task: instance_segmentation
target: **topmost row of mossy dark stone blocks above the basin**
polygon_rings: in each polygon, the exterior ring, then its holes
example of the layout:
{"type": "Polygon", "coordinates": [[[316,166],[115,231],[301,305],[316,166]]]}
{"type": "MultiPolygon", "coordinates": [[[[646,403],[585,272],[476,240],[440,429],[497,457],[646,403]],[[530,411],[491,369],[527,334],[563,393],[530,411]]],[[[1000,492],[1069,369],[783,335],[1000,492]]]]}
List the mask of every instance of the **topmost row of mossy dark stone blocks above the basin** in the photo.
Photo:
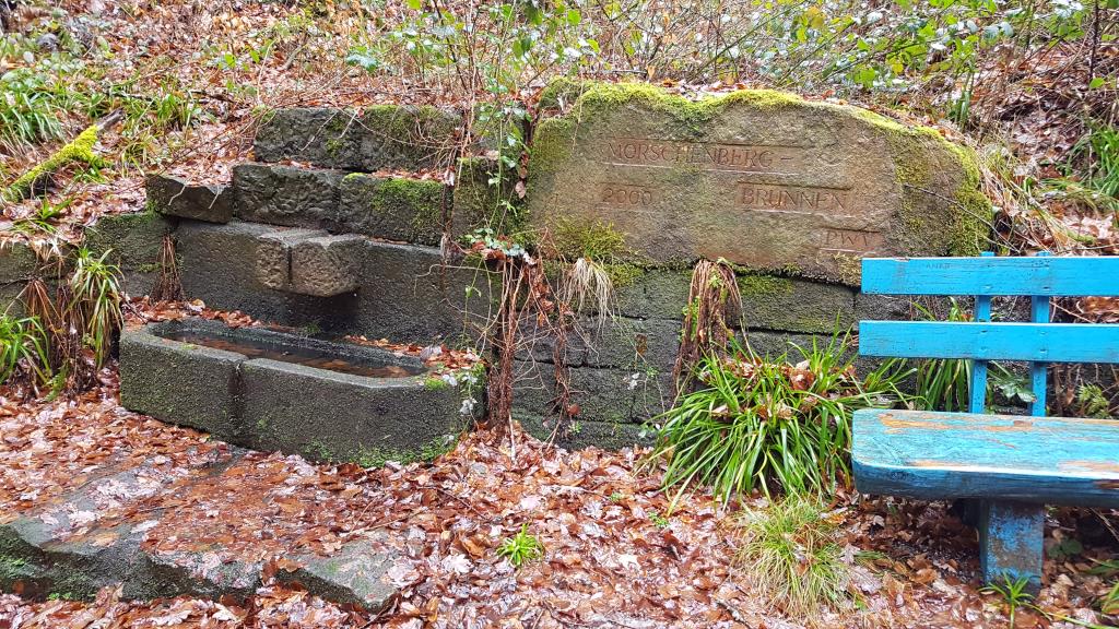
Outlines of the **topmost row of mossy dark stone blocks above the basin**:
{"type": "Polygon", "coordinates": [[[450,163],[461,126],[460,115],[431,106],[280,110],[256,132],[254,152],[345,170],[426,170],[450,163]]]}

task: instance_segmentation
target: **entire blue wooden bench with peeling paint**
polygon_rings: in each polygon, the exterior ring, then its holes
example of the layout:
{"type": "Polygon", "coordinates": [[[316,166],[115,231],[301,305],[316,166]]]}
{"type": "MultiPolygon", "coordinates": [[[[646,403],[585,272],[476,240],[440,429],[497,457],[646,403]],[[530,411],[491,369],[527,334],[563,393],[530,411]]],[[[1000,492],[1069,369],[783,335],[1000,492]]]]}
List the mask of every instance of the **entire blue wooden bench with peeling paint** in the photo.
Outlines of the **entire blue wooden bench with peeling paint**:
{"type": "Polygon", "coordinates": [[[977,501],[984,580],[1036,590],[1045,505],[1119,507],[1119,421],[1045,416],[1049,363],[1119,363],[1119,325],[1050,323],[1050,299],[1119,295],[1119,257],[867,259],[863,292],[975,295],[974,321],[859,322],[862,355],[974,368],[970,413],[855,413],[856,487],[977,501]],[[1031,297],[1032,321],[991,322],[993,295],[1031,297]],[[1032,416],[985,413],[988,360],[1029,363],[1032,416]]]}

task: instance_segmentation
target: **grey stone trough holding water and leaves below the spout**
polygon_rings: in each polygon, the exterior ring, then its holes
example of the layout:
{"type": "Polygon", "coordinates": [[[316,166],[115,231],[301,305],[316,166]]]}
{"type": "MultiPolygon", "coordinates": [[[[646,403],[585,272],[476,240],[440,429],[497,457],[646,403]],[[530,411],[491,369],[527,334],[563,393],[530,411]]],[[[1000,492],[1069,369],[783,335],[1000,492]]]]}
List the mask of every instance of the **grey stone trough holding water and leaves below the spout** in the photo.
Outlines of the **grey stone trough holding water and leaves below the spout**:
{"type": "Polygon", "coordinates": [[[419,358],[263,328],[203,319],[130,328],[120,366],[131,411],[312,460],[430,460],[469,420],[467,392],[419,358]]]}

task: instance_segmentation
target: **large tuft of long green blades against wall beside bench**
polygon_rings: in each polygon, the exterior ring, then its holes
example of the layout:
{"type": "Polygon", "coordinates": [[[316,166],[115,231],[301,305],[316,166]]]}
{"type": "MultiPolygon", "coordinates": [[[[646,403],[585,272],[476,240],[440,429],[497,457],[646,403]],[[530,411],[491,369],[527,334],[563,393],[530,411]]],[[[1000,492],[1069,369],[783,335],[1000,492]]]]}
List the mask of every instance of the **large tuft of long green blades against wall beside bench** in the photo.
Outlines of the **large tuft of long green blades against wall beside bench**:
{"type": "Polygon", "coordinates": [[[857,409],[891,406],[909,375],[887,362],[859,378],[848,336],[825,346],[792,346],[800,362],[763,360],[749,347],[708,356],[694,393],[659,415],[655,456],[664,484],[711,486],[724,501],[754,489],[771,495],[830,492],[849,476],[850,419],[857,409]]]}

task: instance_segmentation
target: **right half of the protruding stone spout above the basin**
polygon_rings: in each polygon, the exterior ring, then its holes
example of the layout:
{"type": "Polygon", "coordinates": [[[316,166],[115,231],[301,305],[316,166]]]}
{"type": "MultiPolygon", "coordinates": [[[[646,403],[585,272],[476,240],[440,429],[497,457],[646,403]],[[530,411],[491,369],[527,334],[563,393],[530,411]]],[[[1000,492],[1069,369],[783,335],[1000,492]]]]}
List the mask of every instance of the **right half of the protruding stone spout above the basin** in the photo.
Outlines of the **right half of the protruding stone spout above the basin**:
{"type": "Polygon", "coordinates": [[[314,297],[354,292],[360,285],[356,260],[365,238],[318,236],[295,242],[291,248],[291,290],[314,297]]]}

